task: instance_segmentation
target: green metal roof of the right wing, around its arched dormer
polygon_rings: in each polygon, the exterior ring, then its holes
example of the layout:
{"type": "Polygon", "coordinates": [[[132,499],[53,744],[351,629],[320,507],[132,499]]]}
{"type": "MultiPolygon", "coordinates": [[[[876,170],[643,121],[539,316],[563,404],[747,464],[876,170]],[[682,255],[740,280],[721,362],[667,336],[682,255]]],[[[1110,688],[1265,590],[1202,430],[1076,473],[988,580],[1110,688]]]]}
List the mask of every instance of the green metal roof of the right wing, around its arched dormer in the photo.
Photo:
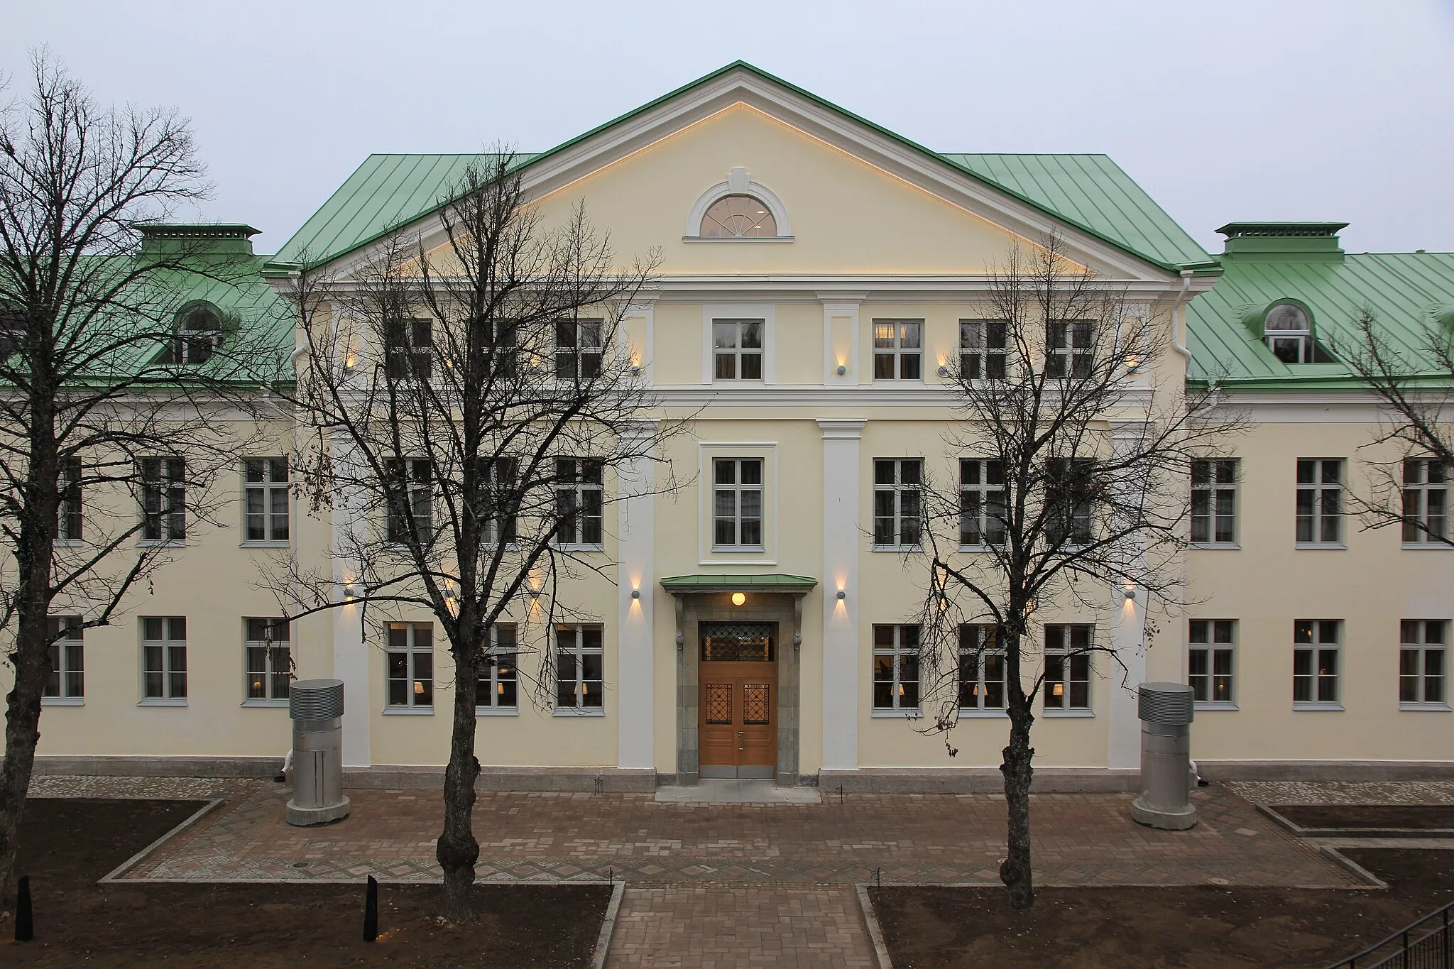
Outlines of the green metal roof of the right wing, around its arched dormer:
{"type": "Polygon", "coordinates": [[[1188,309],[1189,381],[1239,389],[1357,389],[1361,381],[1343,363],[1290,365],[1272,356],[1243,318],[1274,299],[1304,304],[1313,314],[1313,334],[1335,354],[1358,346],[1358,317],[1367,307],[1407,375],[1448,382],[1422,346],[1454,308],[1454,253],[1224,259],[1217,285],[1188,309]]]}

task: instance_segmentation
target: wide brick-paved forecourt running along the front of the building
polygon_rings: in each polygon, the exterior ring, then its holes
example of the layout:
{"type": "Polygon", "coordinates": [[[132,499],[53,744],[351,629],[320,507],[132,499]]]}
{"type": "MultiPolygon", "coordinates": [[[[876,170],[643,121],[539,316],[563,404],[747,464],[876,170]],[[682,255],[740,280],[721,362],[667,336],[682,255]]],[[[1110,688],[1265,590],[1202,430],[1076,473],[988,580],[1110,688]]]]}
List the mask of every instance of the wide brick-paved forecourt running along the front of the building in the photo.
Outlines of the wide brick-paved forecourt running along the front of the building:
{"type": "MultiPolygon", "coordinates": [[[[350,790],[353,815],[284,824],[282,784],[254,782],[124,875],[167,880],[438,880],[439,793],[350,790]]],[[[1201,824],[1153,831],[1130,795],[1035,795],[1041,885],[1351,886],[1236,795],[1197,792],[1201,824]]],[[[843,805],[659,803],[644,795],[481,793],[481,880],[997,883],[996,795],[859,795],[843,805]]]]}

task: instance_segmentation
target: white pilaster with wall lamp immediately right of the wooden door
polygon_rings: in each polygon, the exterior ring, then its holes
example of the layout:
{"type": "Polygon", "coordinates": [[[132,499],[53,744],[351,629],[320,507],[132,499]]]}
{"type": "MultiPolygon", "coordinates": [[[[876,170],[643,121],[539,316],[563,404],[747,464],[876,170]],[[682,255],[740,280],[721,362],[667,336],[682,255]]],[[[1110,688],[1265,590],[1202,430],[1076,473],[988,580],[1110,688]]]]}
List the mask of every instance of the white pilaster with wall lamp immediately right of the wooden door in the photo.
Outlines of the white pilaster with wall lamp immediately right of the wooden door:
{"type": "Polygon", "coordinates": [[[858,527],[862,418],[823,430],[823,769],[858,767],[858,527]],[[839,591],[843,599],[839,599],[839,591]]]}

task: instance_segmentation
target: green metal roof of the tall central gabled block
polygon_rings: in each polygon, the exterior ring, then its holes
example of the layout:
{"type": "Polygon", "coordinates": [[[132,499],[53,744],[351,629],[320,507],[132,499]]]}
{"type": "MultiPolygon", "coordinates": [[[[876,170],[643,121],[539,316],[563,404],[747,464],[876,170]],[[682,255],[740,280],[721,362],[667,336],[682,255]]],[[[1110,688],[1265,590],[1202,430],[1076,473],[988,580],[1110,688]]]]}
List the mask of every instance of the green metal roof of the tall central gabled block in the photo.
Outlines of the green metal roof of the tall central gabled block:
{"type": "MultiPolygon", "coordinates": [[[[1188,266],[1216,269],[1211,256],[1105,155],[941,154],[744,61],[727,64],[550,151],[521,155],[521,166],[564,151],[734,70],[755,74],[851,118],[1149,263],[1169,270],[1188,266]]],[[[449,186],[480,157],[369,155],[279,250],[272,272],[282,272],[304,259],[313,263],[336,259],[369,244],[400,224],[427,215],[446,200],[449,186]]]]}

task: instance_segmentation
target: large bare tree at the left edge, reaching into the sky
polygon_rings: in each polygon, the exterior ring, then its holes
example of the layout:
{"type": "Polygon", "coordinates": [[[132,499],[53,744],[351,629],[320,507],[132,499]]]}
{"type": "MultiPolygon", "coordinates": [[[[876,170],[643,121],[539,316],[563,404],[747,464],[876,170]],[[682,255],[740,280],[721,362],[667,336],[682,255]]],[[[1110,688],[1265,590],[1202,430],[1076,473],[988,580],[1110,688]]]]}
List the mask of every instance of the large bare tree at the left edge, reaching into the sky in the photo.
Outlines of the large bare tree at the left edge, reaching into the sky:
{"type": "Polygon", "coordinates": [[[186,292],[233,286],[250,259],[147,228],[206,195],[188,123],[99,108],[44,51],[29,81],[0,106],[0,626],[15,631],[0,893],[51,654],[76,635],[54,616],[108,625],[188,523],[212,520],[236,439],[221,401],[196,394],[240,373],[218,344],[249,341],[237,321],[179,333],[176,320],[186,292]]]}

